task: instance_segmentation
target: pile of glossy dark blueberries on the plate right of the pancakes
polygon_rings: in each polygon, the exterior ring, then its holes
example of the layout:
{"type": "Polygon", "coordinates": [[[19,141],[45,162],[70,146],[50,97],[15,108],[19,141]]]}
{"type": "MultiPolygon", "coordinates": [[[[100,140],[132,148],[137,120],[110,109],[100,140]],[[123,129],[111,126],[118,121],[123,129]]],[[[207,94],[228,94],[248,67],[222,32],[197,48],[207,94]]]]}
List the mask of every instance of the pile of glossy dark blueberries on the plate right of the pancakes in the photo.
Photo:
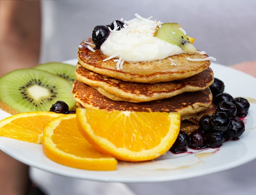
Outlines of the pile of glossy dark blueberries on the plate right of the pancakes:
{"type": "Polygon", "coordinates": [[[250,104],[242,97],[233,98],[223,93],[224,83],[215,78],[210,86],[216,112],[204,115],[199,120],[199,129],[189,136],[180,131],[171,147],[172,153],[183,153],[187,146],[192,149],[220,147],[224,141],[237,140],[244,133],[244,122],[239,117],[247,116],[250,104]]]}

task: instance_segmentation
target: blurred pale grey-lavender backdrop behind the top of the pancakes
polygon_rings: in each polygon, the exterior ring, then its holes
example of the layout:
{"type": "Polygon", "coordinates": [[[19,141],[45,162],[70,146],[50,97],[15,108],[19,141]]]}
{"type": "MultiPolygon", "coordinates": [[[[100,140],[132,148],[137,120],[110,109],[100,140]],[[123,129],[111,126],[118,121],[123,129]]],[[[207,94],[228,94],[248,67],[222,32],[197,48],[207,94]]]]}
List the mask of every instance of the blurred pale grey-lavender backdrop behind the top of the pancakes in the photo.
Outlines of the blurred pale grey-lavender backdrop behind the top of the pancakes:
{"type": "Polygon", "coordinates": [[[217,63],[256,60],[254,0],[90,0],[42,1],[41,62],[76,58],[79,43],[96,25],[131,20],[135,13],[164,23],[179,23],[195,48],[217,63]]]}

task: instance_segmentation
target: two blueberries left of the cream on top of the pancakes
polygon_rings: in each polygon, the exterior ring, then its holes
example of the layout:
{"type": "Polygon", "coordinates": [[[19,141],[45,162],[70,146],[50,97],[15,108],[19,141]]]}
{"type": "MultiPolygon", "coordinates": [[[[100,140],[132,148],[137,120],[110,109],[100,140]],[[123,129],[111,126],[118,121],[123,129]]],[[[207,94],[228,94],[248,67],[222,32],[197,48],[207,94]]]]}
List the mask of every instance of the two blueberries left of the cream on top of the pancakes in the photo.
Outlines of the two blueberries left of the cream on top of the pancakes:
{"type": "Polygon", "coordinates": [[[116,26],[118,27],[116,30],[119,31],[121,28],[124,27],[124,22],[120,21],[120,20],[115,20],[113,21],[113,23],[111,23],[111,25],[98,25],[95,26],[95,28],[93,29],[93,43],[94,45],[96,45],[97,48],[99,48],[102,43],[108,38],[108,35],[110,33],[109,28],[111,28],[111,30],[113,30],[115,28],[115,23],[116,26]],[[108,28],[109,27],[109,28],[108,28]]]}

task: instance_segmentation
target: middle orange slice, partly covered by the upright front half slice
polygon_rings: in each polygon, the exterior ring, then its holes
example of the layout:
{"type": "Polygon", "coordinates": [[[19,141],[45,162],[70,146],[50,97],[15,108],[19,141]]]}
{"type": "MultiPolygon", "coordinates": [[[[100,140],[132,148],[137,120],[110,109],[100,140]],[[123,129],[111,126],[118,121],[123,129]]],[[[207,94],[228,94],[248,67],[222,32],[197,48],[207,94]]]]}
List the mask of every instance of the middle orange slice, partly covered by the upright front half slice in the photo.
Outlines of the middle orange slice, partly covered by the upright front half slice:
{"type": "Polygon", "coordinates": [[[76,114],[60,116],[44,129],[43,150],[52,161],[85,170],[116,170],[117,160],[100,153],[81,135],[76,114]]]}

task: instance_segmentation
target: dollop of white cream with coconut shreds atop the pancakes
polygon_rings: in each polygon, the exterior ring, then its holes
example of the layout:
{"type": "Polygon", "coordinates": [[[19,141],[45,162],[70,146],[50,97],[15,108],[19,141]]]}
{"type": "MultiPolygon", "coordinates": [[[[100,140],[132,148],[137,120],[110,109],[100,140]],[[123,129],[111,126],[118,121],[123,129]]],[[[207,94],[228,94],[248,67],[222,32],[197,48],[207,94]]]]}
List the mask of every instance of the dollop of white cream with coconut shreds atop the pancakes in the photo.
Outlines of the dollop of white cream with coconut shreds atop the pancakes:
{"type": "Polygon", "coordinates": [[[114,55],[127,62],[148,62],[184,53],[179,46],[154,37],[156,28],[163,23],[150,20],[151,17],[135,16],[132,20],[124,21],[121,30],[110,32],[100,48],[104,55],[114,55]]]}

